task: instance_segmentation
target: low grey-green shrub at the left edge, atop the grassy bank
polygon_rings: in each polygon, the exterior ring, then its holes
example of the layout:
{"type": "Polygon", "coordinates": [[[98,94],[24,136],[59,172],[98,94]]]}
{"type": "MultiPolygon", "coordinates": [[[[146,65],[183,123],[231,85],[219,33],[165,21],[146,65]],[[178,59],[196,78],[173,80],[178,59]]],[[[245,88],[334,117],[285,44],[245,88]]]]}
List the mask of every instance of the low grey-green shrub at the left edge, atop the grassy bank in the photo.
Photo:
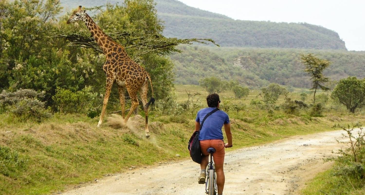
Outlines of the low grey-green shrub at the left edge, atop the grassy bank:
{"type": "Polygon", "coordinates": [[[44,93],[32,89],[19,89],[15,92],[5,90],[0,94],[1,110],[10,111],[22,120],[41,121],[51,116],[45,109],[45,102],[40,101],[44,98],[44,93]]]}

